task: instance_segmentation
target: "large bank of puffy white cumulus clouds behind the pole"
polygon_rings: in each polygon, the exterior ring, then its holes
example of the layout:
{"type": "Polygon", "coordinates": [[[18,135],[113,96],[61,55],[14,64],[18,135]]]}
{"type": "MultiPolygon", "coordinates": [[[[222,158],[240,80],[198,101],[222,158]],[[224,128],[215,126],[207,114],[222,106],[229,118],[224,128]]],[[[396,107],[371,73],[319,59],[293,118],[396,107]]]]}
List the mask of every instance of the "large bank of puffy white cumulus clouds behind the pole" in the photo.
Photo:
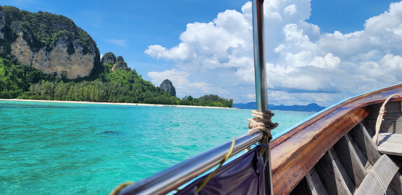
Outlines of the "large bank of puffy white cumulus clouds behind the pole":
{"type": "MultiPolygon", "coordinates": [[[[270,103],[329,106],[402,81],[402,2],[367,18],[363,31],[347,34],[322,33],[306,21],[310,12],[310,0],[264,2],[270,103]]],[[[175,62],[148,76],[156,85],[171,80],[179,97],[255,98],[251,2],[209,23],[190,23],[178,45],[150,45],[145,53],[175,62]]]]}

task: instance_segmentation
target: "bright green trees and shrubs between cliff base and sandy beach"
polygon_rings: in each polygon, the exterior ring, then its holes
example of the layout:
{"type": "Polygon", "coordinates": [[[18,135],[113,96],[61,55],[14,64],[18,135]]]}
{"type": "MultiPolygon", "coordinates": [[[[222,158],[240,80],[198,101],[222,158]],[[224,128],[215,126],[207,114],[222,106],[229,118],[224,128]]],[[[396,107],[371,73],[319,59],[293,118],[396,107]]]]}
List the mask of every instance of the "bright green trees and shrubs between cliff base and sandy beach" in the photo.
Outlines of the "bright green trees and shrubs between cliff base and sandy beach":
{"type": "Polygon", "coordinates": [[[212,94],[198,99],[192,96],[179,99],[144,80],[131,68],[112,71],[113,65],[104,63],[103,66],[103,73],[95,80],[69,80],[44,74],[41,70],[22,64],[15,57],[9,60],[0,57],[0,98],[213,107],[233,105],[232,99],[212,94]]]}

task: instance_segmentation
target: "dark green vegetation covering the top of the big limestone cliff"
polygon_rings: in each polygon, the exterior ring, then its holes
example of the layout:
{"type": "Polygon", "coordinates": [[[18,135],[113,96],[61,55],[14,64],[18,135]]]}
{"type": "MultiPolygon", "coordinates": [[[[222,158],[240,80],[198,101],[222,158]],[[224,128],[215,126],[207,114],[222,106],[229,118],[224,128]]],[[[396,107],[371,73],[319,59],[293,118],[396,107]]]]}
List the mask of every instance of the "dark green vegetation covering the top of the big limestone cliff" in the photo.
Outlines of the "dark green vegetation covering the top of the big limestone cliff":
{"type": "Polygon", "coordinates": [[[52,14],[50,12],[39,11],[37,13],[26,10],[19,10],[13,6],[0,6],[4,10],[5,16],[5,39],[0,42],[0,46],[6,48],[6,53],[10,52],[10,44],[18,37],[19,32],[23,33],[23,39],[27,41],[32,51],[38,51],[45,47],[47,51],[53,49],[55,41],[60,37],[68,39],[68,52],[74,53],[73,40],[82,44],[84,55],[91,50],[91,45],[96,43],[91,36],[80,27],[77,27],[72,19],[63,15],[52,14]]]}

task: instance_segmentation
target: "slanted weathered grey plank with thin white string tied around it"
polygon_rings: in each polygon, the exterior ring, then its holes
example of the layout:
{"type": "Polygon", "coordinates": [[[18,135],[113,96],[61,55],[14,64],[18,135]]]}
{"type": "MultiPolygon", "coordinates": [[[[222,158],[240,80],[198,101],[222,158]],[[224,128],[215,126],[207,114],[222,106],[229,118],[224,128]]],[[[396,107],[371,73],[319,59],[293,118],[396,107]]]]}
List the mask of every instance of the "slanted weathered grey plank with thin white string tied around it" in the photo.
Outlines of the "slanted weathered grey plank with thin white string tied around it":
{"type": "MultiPolygon", "coordinates": [[[[400,168],[402,162],[399,160],[392,160],[386,154],[382,155],[376,164],[374,164],[373,169],[378,175],[379,179],[384,183],[384,186],[388,188],[391,180],[394,178],[396,172],[400,168]]],[[[374,176],[373,172],[368,172],[367,176],[364,178],[360,187],[356,190],[355,195],[382,195],[384,194],[384,189],[381,184],[374,176]]]]}

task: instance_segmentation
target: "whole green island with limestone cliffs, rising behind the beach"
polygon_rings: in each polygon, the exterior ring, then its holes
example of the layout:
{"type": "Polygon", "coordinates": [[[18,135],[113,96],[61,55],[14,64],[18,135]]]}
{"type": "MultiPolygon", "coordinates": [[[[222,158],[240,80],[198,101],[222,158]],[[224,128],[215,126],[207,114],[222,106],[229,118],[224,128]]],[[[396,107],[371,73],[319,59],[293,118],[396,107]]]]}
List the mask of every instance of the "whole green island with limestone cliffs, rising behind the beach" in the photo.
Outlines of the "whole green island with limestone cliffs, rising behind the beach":
{"type": "Polygon", "coordinates": [[[102,57],[96,42],[63,15],[0,6],[0,99],[232,107],[206,94],[176,97],[168,79],[144,80],[122,56],[102,57]]]}

